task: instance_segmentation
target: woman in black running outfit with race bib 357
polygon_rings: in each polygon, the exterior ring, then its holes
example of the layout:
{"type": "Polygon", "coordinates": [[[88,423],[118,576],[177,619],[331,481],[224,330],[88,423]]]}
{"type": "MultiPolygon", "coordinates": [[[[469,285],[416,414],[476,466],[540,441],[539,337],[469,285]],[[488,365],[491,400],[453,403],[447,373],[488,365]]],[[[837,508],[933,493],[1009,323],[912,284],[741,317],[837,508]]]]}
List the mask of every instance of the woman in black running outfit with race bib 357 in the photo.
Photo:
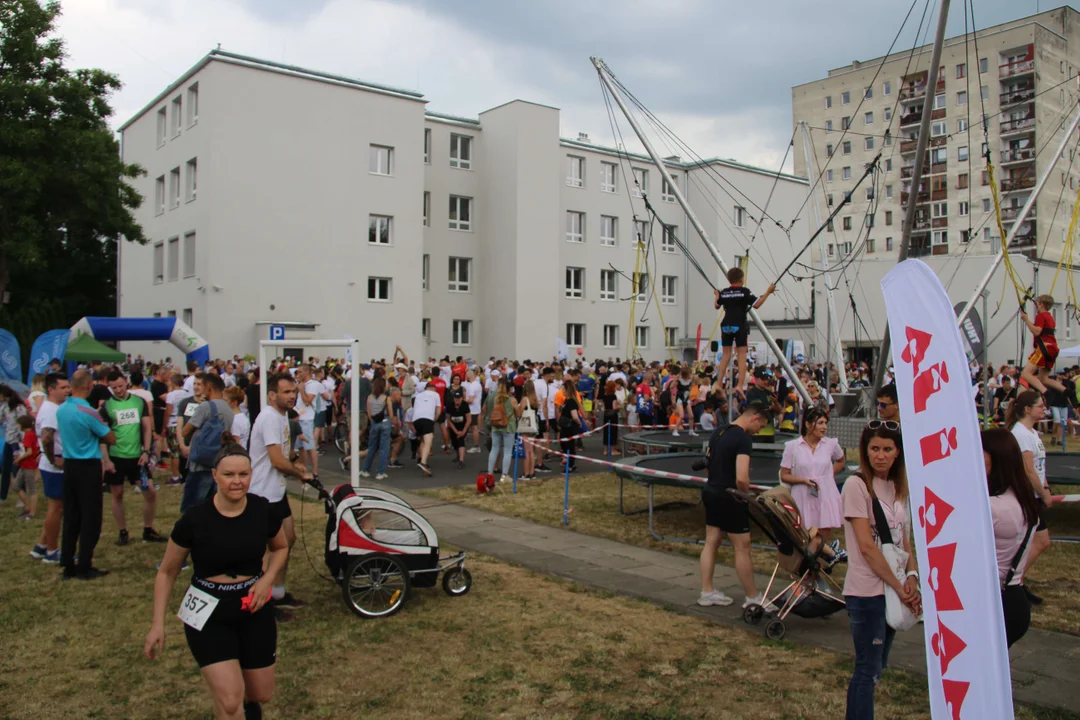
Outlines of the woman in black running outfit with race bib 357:
{"type": "Polygon", "coordinates": [[[188,648],[214,698],[215,718],[262,717],[273,695],[278,626],[267,606],[288,544],[270,502],[248,494],[252,461],[235,443],[217,453],[217,492],[176,521],[153,586],[153,622],[143,652],[165,648],[165,613],[180,567],[191,555],[194,578],[180,603],[188,648]],[[262,556],[269,544],[266,571],[262,556]]]}

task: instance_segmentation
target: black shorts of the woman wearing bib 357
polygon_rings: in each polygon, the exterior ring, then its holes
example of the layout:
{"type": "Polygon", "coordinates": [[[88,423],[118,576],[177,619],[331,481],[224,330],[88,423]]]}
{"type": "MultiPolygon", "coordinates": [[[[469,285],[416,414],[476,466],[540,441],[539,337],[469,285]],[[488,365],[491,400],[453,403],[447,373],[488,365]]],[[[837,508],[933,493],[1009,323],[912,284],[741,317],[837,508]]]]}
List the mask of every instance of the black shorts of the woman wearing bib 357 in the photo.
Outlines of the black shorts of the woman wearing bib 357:
{"type": "Polygon", "coordinates": [[[188,648],[199,667],[230,660],[240,661],[245,670],[271,667],[278,658],[278,623],[273,608],[262,608],[252,614],[240,604],[257,578],[231,585],[211,583],[200,578],[191,581],[195,588],[218,598],[214,613],[201,630],[184,626],[188,648]]]}

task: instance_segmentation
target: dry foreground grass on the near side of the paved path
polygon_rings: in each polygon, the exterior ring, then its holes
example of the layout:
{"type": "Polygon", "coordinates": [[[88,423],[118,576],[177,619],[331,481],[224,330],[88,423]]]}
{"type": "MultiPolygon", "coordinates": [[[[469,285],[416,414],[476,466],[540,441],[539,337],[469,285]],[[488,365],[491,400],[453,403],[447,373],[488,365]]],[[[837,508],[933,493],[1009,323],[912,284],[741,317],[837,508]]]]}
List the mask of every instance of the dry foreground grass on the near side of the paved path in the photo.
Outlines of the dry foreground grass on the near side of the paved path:
{"type": "MultiPolygon", "coordinates": [[[[166,531],[179,491],[161,495],[159,527],[166,531]]],[[[293,507],[300,512],[298,501],[293,507]]],[[[138,527],[138,498],[131,498],[131,527],[138,527]]],[[[164,656],[153,663],[141,656],[161,545],[117,547],[106,519],[95,565],[111,574],[60,583],[55,567],[26,556],[37,525],[14,520],[10,505],[0,513],[0,717],[210,717],[172,613],[164,656]]],[[[303,519],[308,549],[323,572],[320,506],[305,504],[303,519]]],[[[843,712],[848,657],[487,558],[469,567],[475,584],[465,597],[418,590],[397,615],[363,621],[336,586],[316,576],[298,543],[289,587],[311,604],[279,627],[278,691],[266,717],[825,719],[843,712]]],[[[877,690],[878,717],[928,717],[924,682],[888,671],[877,690]]],[[[1017,717],[1077,718],[1028,708],[1017,717]]]]}

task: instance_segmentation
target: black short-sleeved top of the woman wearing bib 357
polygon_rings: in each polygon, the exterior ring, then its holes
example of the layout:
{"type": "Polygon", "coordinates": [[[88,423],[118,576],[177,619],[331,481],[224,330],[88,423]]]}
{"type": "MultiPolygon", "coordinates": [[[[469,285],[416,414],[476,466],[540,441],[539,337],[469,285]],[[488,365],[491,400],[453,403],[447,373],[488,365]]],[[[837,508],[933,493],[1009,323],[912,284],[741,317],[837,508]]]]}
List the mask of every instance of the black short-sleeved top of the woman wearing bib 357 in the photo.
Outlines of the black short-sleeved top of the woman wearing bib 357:
{"type": "Polygon", "coordinates": [[[195,578],[257,575],[262,572],[267,541],[281,529],[281,515],[270,501],[247,495],[244,512],[221,515],[213,498],[188,510],[173,526],[170,539],[191,551],[195,578]]]}

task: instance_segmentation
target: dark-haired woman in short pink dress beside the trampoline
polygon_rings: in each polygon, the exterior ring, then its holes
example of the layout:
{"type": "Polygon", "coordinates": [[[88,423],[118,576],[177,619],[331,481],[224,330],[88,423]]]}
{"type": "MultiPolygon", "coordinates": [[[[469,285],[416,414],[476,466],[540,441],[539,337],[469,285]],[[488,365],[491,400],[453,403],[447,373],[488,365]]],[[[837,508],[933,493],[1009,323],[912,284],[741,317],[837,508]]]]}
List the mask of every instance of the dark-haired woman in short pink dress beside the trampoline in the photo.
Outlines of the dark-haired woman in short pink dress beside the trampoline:
{"type": "Polygon", "coordinates": [[[802,515],[802,525],[818,528],[825,542],[831,530],[843,525],[836,473],[843,472],[845,453],[839,440],[826,437],[828,416],[811,407],[802,416],[799,437],[784,445],[780,480],[792,486],[792,498],[802,515]]]}

